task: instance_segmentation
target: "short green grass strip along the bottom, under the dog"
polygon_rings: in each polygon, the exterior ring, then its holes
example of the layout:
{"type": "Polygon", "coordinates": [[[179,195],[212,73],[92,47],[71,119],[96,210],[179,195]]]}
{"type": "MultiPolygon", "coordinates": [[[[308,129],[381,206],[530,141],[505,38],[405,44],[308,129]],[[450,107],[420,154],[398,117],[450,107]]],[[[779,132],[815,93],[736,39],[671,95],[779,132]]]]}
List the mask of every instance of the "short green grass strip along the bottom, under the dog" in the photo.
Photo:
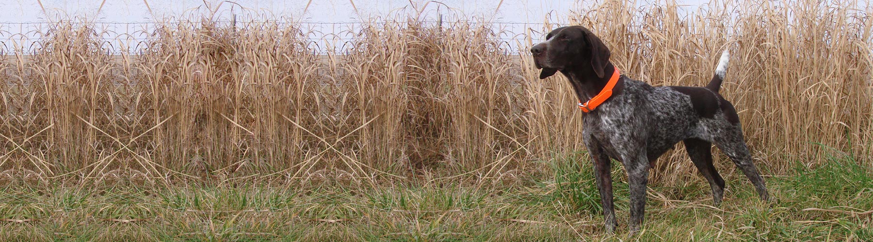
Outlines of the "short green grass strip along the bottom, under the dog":
{"type": "Polygon", "coordinates": [[[499,187],[12,182],[0,189],[0,241],[873,239],[873,175],[847,158],[797,163],[794,174],[767,178],[769,203],[739,174],[724,174],[728,192],[718,208],[702,179],[683,188],[652,185],[643,232],[630,239],[620,166],[613,169],[620,228],[608,235],[584,154],[547,162],[553,177],[499,187]]]}

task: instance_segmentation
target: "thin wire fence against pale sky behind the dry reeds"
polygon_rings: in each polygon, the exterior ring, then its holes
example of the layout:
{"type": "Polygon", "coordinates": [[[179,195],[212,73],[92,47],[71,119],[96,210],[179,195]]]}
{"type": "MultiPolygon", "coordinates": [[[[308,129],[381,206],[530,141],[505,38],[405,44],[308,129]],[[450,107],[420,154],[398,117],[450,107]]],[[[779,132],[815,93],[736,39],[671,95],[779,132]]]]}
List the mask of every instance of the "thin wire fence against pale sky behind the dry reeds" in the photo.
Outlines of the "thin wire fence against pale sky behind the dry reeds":
{"type": "MultiPolygon", "coordinates": [[[[211,21],[223,27],[257,28],[259,24],[275,24],[279,29],[297,28],[306,37],[308,47],[315,52],[337,53],[347,52],[354,46],[354,39],[365,26],[381,26],[381,24],[409,24],[411,22],[283,22],[283,21],[246,21],[232,20],[211,21]]],[[[563,26],[567,24],[543,24],[521,22],[443,22],[439,20],[416,21],[417,24],[433,24],[441,28],[453,28],[455,24],[485,25],[495,32],[501,41],[501,48],[507,52],[517,52],[526,44],[538,42],[545,36],[546,27],[563,26]]],[[[43,50],[45,37],[58,24],[72,26],[88,25],[93,35],[100,41],[100,49],[110,54],[138,54],[149,46],[155,31],[164,26],[177,24],[200,25],[200,21],[172,22],[0,22],[0,55],[13,53],[32,55],[43,50]]]]}

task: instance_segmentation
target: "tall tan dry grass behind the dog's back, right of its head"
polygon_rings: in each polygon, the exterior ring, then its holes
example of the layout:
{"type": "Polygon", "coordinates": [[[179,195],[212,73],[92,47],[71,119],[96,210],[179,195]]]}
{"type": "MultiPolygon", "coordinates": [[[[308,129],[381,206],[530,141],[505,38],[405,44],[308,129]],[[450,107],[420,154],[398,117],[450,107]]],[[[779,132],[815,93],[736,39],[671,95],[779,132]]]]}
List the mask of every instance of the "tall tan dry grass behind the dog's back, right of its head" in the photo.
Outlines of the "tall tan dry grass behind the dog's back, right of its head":
{"type": "MultiPolygon", "coordinates": [[[[625,73],[655,85],[704,85],[719,51],[731,50],[722,93],[757,163],[786,174],[834,151],[873,165],[873,16],[863,4],[713,2],[684,16],[670,2],[607,1],[573,22],[591,26],[625,73]]],[[[682,150],[665,155],[656,177],[695,172],[682,150]]]]}

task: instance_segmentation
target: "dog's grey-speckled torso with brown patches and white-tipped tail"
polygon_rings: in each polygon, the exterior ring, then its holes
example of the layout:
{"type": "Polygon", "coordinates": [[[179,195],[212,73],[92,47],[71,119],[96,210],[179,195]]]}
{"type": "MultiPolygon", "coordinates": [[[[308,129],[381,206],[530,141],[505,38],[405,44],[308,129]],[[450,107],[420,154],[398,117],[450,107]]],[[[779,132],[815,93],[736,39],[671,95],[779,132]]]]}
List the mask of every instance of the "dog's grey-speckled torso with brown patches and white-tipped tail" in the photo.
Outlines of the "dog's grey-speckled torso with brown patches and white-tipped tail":
{"type": "Polygon", "coordinates": [[[732,104],[718,94],[725,77],[727,60],[725,51],[716,74],[706,87],[654,87],[623,77],[622,93],[613,97],[610,101],[612,104],[603,104],[600,113],[588,115],[586,118],[593,119],[593,122],[586,126],[601,130],[603,138],[621,133],[622,129],[645,136],[650,162],[686,138],[713,142],[714,133],[739,125],[732,104]],[[638,118],[624,117],[626,114],[634,114],[638,118]],[[642,125],[611,128],[616,122],[639,122],[642,125]]]}

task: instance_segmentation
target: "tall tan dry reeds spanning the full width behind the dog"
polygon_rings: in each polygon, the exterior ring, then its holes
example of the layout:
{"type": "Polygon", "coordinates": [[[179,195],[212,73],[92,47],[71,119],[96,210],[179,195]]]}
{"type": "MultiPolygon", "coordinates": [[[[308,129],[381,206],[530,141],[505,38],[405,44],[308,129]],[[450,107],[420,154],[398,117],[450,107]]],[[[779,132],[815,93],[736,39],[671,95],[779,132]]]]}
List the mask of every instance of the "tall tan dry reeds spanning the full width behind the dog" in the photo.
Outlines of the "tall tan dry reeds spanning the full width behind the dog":
{"type": "MultiPolygon", "coordinates": [[[[569,22],[594,30],[626,75],[655,85],[705,84],[730,49],[722,92],[756,162],[784,174],[835,153],[871,165],[873,16],[857,5],[743,1],[686,16],[670,2],[606,1],[569,22]]],[[[584,149],[566,80],[538,80],[526,51],[508,53],[491,25],[374,22],[347,53],[318,55],[299,25],[277,23],[161,24],[141,55],[107,54],[93,24],[53,25],[36,55],[0,62],[0,169],[38,179],[494,181],[584,149]]],[[[695,177],[686,159],[668,153],[655,181],[695,177]]]]}

